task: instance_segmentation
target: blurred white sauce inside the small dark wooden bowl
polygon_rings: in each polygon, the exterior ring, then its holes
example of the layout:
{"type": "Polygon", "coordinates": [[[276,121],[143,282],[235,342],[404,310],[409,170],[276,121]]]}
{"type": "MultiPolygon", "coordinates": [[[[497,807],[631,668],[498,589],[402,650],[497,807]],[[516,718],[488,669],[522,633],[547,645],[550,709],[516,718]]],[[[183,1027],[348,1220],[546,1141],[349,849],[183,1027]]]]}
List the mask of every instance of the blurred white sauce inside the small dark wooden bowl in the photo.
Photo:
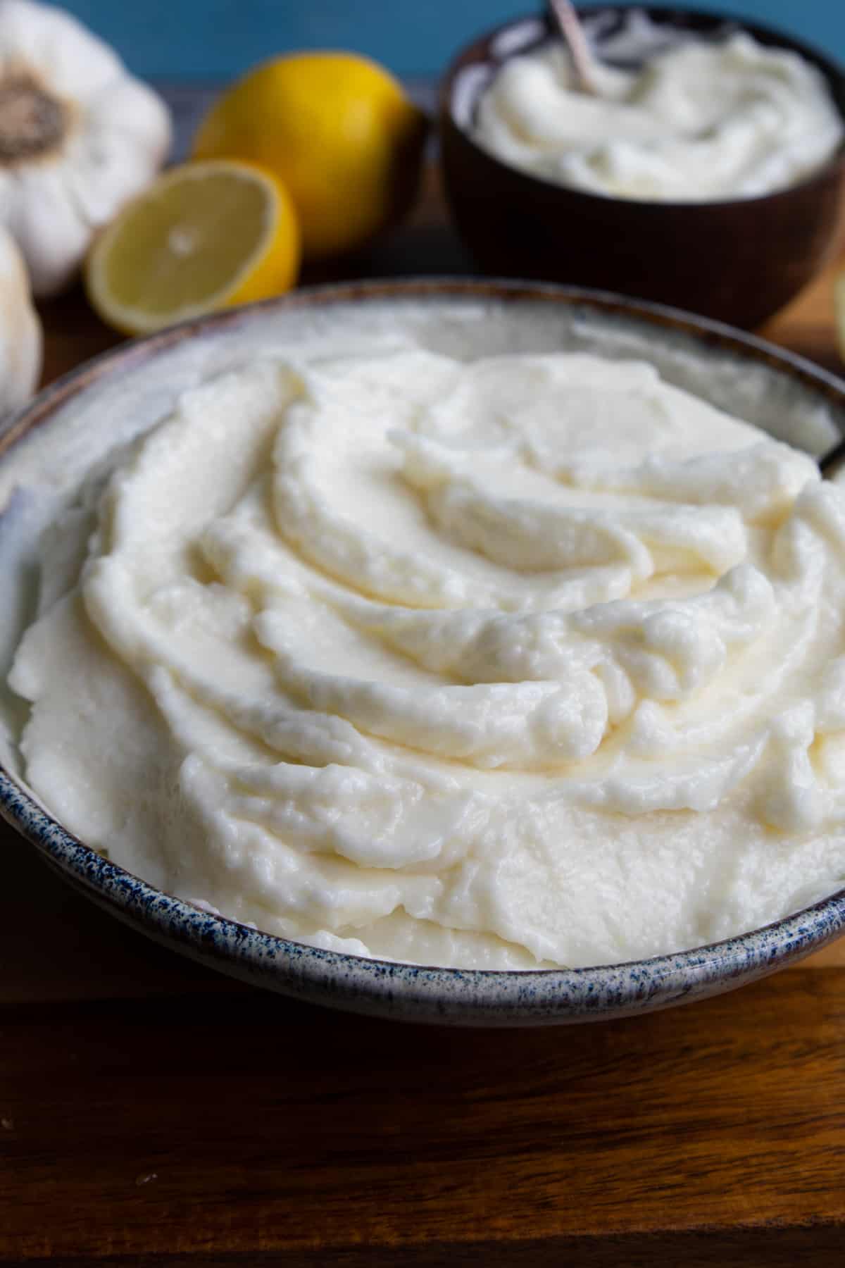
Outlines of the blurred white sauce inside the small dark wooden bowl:
{"type": "Polygon", "coordinates": [[[688,39],[640,71],[598,66],[576,91],[560,44],[513,57],[481,95],[474,134],[560,185],[646,202],[755,198],[821,167],[842,119],[815,66],[751,36],[688,39]]]}

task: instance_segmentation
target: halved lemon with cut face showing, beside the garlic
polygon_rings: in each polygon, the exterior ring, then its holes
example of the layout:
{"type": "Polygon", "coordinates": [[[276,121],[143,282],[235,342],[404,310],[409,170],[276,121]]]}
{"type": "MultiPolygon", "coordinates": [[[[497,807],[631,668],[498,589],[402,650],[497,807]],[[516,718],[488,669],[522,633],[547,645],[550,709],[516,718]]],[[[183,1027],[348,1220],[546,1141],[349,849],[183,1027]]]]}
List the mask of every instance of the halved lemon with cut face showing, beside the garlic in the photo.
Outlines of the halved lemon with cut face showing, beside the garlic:
{"type": "Polygon", "coordinates": [[[94,243],[85,284],[100,317],[148,335],[281,294],[296,280],[299,226],[272,172],[234,160],[160,176],[94,243]]]}

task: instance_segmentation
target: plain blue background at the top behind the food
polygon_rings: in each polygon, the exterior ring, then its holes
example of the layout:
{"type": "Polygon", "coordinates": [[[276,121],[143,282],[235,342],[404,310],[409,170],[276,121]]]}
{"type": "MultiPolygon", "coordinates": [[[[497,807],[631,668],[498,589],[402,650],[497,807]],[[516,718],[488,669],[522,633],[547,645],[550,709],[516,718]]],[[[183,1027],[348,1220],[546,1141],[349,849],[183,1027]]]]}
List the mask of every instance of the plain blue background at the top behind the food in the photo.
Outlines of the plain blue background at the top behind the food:
{"type": "MultiPolygon", "coordinates": [[[[228,79],[293,48],[353,48],[399,75],[437,74],[470,36],[537,0],[67,0],[139,75],[228,79]]],[[[679,5],[683,8],[683,4],[679,5]]],[[[845,61],[845,0],[697,0],[780,27],[845,61]]]]}

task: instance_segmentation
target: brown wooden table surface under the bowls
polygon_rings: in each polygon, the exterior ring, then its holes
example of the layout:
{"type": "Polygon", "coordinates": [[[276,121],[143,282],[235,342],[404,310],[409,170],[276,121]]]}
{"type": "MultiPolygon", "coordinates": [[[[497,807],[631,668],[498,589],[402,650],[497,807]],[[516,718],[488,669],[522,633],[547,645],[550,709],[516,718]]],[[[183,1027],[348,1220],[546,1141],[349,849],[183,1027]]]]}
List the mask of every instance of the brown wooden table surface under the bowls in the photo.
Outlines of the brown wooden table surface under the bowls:
{"type": "MultiPolygon", "coordinates": [[[[433,180],[360,268],[466,270],[433,180]]],[[[766,333],[837,368],[830,285],[766,333]]],[[[48,379],[115,342],[43,316],[48,379]]],[[[0,848],[1,1263],[842,1263],[845,940],[633,1021],[424,1030],[215,976],[0,848]]]]}

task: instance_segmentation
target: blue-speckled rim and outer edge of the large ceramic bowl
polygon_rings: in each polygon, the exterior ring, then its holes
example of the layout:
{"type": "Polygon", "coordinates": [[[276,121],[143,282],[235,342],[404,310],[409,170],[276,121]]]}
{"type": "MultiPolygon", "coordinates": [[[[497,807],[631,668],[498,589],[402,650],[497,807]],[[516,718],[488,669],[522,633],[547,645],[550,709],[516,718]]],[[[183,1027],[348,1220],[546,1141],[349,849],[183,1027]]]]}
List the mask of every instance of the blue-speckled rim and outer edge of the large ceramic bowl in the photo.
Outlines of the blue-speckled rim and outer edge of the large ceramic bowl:
{"type": "MultiPolygon", "coordinates": [[[[551,302],[679,330],[783,370],[845,408],[845,383],[796,354],[721,322],[607,292],[498,279],[426,278],[303,288],[279,299],[198,318],[85,363],[39,393],[0,429],[0,462],[32,427],[91,383],[186,339],[251,321],[269,309],[389,299],[475,298],[551,302]]],[[[365,959],[262,933],[163,894],[85,846],[0,766],[0,815],[44,861],[114,915],[191,959],[312,1003],[403,1021],[531,1026],[631,1016],[717,994],[764,976],[845,932],[845,889],[739,937],[617,965],[494,971],[365,959]]],[[[37,929],[34,929],[37,933],[37,929]]]]}

